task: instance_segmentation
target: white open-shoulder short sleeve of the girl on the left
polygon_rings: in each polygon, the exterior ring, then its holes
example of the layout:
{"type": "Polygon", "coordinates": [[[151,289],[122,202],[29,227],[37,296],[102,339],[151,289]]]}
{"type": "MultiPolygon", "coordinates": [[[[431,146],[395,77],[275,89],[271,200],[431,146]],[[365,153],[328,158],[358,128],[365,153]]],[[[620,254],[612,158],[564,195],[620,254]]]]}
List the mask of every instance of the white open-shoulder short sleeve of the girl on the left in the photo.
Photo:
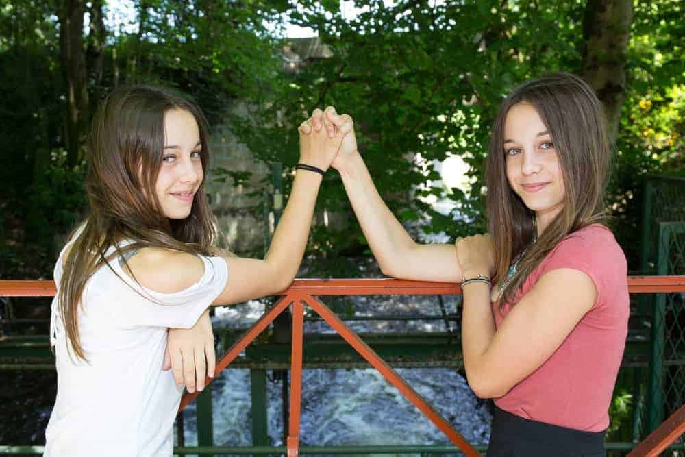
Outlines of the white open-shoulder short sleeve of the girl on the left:
{"type": "Polygon", "coordinates": [[[122,304],[125,309],[117,313],[121,323],[126,327],[151,325],[190,328],[195,325],[201,314],[219,297],[228,281],[228,265],[222,257],[199,257],[204,264],[202,277],[192,286],[176,293],[151,291],[118,268],[117,273],[128,284],[121,285],[128,289],[128,296],[134,297],[122,304]]]}

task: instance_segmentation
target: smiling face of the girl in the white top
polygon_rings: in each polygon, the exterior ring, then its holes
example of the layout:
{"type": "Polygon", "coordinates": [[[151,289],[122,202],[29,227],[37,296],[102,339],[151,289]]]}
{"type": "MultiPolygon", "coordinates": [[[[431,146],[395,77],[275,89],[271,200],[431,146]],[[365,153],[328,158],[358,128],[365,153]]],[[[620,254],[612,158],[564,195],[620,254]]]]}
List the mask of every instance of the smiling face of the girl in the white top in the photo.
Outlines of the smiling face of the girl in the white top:
{"type": "Polygon", "coordinates": [[[169,219],[185,219],[204,173],[202,143],[195,117],[185,110],[164,114],[164,154],[155,193],[169,219]]]}

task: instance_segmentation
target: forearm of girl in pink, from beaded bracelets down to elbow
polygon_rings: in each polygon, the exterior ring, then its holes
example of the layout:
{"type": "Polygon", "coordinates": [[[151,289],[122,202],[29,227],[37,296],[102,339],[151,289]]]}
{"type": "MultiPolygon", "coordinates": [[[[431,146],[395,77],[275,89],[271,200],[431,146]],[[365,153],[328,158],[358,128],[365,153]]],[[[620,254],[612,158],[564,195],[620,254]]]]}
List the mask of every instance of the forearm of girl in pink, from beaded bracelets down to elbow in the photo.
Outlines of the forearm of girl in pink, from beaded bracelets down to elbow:
{"type": "Polygon", "coordinates": [[[495,318],[490,304],[490,288],[471,283],[462,289],[462,353],[469,386],[479,397],[498,397],[493,391],[496,373],[488,373],[488,348],[495,337],[495,318]]]}

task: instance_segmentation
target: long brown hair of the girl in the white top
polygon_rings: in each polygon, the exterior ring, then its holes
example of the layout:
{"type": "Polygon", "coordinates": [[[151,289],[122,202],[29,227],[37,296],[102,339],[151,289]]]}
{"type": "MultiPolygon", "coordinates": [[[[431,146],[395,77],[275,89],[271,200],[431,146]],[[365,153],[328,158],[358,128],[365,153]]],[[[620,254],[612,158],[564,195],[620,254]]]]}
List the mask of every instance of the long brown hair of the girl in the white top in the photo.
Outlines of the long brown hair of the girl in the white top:
{"type": "MultiPolygon", "coordinates": [[[[103,101],[88,138],[86,195],[90,212],[64,262],[59,309],[66,336],[86,360],[78,330],[84,287],[114,256],[143,247],[206,254],[216,238],[214,217],[201,184],[186,219],[169,219],[155,193],[164,149],[164,114],[185,110],[197,121],[202,169],[208,163],[208,130],[196,103],[173,90],[127,86],[103,101]],[[120,248],[121,240],[133,243],[120,248]],[[114,247],[114,254],[105,253],[114,247]]],[[[111,268],[111,267],[110,267],[111,268]]]]}

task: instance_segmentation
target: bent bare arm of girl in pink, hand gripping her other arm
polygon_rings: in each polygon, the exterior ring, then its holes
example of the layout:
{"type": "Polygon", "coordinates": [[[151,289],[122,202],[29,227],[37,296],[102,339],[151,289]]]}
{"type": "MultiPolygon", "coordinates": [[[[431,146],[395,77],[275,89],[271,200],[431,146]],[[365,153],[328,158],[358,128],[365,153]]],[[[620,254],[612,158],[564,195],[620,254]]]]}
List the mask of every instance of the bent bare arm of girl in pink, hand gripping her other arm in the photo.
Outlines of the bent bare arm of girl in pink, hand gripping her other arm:
{"type": "MultiPolygon", "coordinates": [[[[490,240],[484,236],[458,243],[466,277],[490,275],[488,249],[492,249],[490,240]]],[[[475,394],[483,398],[501,397],[543,365],[597,299],[595,283],[582,271],[549,271],[496,330],[488,286],[482,282],[466,284],[462,294],[466,378],[475,394]]]]}

